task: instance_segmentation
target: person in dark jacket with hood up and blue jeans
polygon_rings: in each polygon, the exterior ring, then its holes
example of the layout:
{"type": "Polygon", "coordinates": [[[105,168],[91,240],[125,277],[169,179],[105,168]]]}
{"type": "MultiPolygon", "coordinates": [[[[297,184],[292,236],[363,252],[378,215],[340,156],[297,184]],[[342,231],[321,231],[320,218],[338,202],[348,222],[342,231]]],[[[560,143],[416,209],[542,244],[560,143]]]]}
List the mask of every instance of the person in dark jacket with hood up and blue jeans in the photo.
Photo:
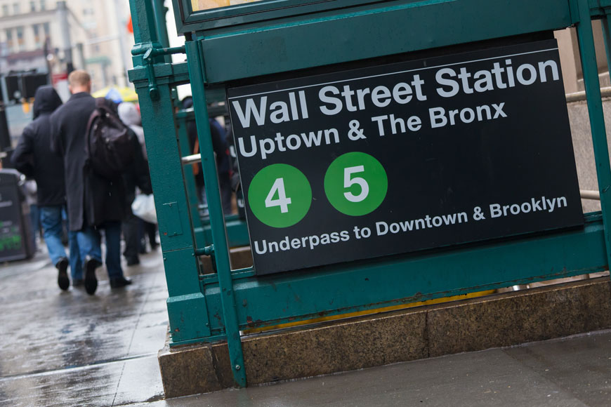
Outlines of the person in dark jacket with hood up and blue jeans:
{"type": "MultiPolygon", "coordinates": [[[[62,244],[62,211],[66,204],[63,161],[49,150],[51,113],[62,105],[53,86],[41,86],[34,95],[34,121],[24,130],[11,156],[15,168],[38,185],[38,206],[44,241],[53,265],[58,269],[58,286],[70,286],[67,267],[69,260],[62,244]]],[[[68,234],[70,241],[70,272],[72,284],[83,283],[83,270],[77,244],[77,234],[68,234]]]]}

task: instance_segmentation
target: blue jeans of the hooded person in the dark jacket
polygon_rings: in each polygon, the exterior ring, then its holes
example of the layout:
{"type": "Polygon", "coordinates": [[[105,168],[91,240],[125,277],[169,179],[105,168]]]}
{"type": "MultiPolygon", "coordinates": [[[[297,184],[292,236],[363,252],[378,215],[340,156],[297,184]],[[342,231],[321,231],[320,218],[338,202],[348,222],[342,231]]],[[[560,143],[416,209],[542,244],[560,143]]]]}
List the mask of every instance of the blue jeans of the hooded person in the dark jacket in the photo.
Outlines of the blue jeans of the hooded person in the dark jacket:
{"type": "MultiPolygon", "coordinates": [[[[40,206],[40,223],[43,229],[44,241],[53,265],[60,258],[67,258],[64,245],[62,244],[62,206],[40,206]]],[[[68,232],[70,242],[70,274],[73,280],[83,279],[83,268],[81,267],[81,256],[77,243],[77,232],[68,232]]]]}

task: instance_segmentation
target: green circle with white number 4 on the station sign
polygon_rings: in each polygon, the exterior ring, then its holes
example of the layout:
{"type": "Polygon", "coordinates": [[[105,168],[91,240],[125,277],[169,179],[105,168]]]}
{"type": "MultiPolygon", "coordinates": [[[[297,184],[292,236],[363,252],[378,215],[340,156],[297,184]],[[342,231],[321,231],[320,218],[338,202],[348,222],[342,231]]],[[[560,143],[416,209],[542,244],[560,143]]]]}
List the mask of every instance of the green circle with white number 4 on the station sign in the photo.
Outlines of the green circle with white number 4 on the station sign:
{"type": "Polygon", "coordinates": [[[289,227],[306,216],[312,188],[306,175],[288,164],[272,164],[256,173],[248,201],[258,220],[271,227],[289,227]]]}

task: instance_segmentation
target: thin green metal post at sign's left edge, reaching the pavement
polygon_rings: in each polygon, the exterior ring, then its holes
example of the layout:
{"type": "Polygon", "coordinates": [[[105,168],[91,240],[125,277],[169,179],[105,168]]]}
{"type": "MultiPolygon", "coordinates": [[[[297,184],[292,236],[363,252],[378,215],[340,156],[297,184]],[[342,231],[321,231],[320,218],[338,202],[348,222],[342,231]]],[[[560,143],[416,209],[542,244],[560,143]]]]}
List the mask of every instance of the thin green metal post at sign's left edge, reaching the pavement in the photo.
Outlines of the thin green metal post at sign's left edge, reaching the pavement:
{"type": "Polygon", "coordinates": [[[214,244],[214,255],[218,274],[218,285],[221,288],[221,305],[225,321],[225,334],[229,348],[229,358],[233,371],[233,380],[239,387],[246,387],[246,373],[244,369],[244,354],[242,342],[239,338],[235,292],[231,277],[229,262],[229,249],[221,193],[218,189],[216,175],[216,160],[214,159],[212,136],[204,91],[204,61],[200,53],[199,41],[187,41],[186,51],[189,65],[189,76],[193,92],[193,109],[195,110],[195,123],[199,135],[199,150],[202,154],[202,167],[204,169],[204,185],[208,197],[210,213],[210,227],[214,244]]]}

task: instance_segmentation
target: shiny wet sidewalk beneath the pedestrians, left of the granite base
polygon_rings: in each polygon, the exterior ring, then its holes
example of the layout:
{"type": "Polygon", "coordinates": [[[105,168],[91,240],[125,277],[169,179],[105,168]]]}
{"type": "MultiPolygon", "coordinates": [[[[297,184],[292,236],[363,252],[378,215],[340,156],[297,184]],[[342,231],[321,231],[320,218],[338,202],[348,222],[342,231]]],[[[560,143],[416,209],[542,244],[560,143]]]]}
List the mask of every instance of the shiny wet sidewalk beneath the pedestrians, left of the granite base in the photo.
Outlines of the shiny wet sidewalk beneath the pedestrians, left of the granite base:
{"type": "Polygon", "coordinates": [[[167,330],[161,253],[125,267],[111,290],[63,292],[44,253],[0,266],[0,406],[115,406],[162,398],[157,351],[167,330]]]}

